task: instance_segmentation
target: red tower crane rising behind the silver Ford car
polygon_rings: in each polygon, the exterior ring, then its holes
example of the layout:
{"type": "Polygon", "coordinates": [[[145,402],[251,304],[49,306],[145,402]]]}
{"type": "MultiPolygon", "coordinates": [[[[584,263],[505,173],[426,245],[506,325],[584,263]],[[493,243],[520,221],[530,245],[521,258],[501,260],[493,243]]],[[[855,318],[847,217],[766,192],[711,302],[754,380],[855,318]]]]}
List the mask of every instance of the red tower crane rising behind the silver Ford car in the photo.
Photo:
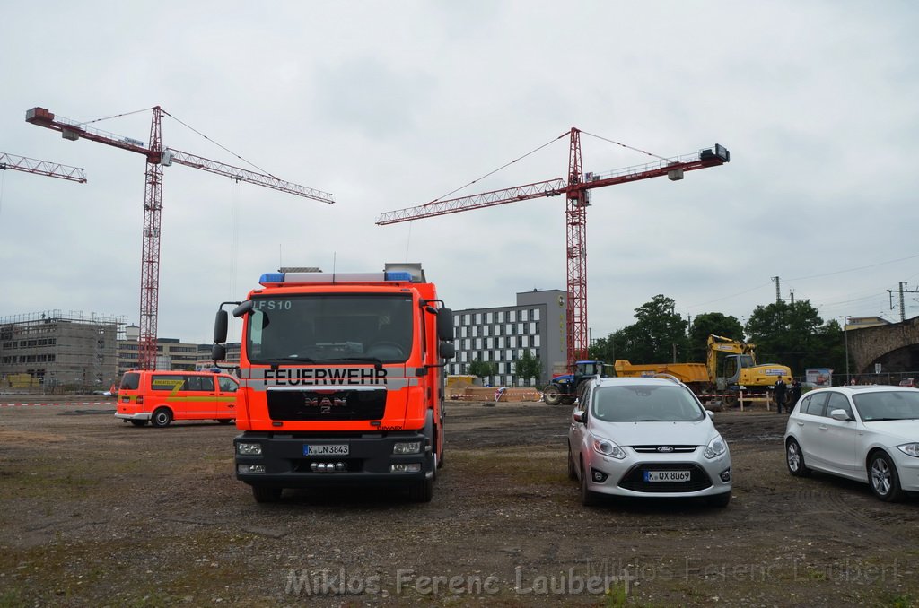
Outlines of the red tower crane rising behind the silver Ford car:
{"type": "MultiPolygon", "coordinates": [[[[562,133],[559,139],[564,137],[562,133]]],[[[417,207],[388,211],[380,215],[377,224],[382,226],[402,221],[420,220],[468,209],[494,207],[518,200],[565,195],[566,256],[568,262],[568,307],[565,319],[567,332],[567,364],[587,356],[587,207],[590,204],[588,190],[614,184],[636,182],[641,179],[667,175],[671,180],[683,179],[686,171],[715,167],[731,161],[731,153],[715,144],[699,152],[675,158],[661,158],[659,162],[646,163],[612,171],[605,175],[584,175],[581,163],[581,130],[572,127],[571,146],[568,155],[568,182],[561,178],[535,182],[502,190],[493,190],[471,197],[435,200],[417,207]]]]}

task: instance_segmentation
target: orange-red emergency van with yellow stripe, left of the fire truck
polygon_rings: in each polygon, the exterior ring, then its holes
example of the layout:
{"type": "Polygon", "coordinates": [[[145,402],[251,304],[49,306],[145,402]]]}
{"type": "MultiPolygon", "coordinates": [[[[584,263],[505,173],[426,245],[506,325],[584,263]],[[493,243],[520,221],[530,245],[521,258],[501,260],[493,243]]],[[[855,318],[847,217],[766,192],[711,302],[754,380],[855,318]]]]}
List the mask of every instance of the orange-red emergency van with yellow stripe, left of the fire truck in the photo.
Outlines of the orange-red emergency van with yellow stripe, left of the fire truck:
{"type": "Polygon", "coordinates": [[[174,420],[227,423],[236,418],[238,388],[236,378],[209,371],[125,372],[115,417],[134,426],[150,421],[153,426],[162,427],[174,420]]]}

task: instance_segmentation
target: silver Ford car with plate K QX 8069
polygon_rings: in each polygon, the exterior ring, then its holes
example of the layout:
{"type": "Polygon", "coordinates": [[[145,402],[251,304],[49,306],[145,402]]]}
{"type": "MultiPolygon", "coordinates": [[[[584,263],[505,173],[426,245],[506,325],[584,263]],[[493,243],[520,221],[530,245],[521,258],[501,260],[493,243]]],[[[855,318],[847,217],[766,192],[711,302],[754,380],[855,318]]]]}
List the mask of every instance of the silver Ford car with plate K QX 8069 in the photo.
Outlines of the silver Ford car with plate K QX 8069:
{"type": "Polygon", "coordinates": [[[572,413],[568,477],[598,494],[731,501],[731,453],[712,413],[674,377],[590,380],[572,413]]]}

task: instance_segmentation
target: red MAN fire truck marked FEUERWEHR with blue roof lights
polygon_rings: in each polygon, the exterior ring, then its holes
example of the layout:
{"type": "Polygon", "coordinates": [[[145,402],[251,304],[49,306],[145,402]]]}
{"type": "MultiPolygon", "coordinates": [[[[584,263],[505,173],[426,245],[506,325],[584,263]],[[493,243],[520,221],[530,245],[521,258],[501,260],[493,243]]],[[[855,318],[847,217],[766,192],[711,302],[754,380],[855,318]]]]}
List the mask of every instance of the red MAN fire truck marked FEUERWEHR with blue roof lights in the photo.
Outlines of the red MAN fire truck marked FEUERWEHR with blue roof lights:
{"type": "Polygon", "coordinates": [[[430,501],[444,450],[444,360],[453,313],[421,265],[381,273],[278,272],[244,302],[224,302],[213,358],[226,357],[229,315],[242,319],[236,375],[236,478],[255,501],[284,488],[400,484],[430,501]]]}

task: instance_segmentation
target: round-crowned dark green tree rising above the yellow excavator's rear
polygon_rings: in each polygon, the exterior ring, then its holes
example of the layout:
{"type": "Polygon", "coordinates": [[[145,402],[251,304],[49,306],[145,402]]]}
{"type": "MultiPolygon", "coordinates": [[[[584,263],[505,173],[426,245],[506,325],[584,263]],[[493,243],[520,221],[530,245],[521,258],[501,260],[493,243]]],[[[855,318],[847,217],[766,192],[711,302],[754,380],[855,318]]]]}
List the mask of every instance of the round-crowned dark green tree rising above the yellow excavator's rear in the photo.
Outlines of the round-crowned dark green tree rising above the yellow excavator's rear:
{"type": "Polygon", "coordinates": [[[747,321],[746,332],[756,344],[757,363],[776,363],[804,373],[805,362],[822,345],[815,339],[823,319],[811,302],[774,302],[757,306],[747,321]]]}

